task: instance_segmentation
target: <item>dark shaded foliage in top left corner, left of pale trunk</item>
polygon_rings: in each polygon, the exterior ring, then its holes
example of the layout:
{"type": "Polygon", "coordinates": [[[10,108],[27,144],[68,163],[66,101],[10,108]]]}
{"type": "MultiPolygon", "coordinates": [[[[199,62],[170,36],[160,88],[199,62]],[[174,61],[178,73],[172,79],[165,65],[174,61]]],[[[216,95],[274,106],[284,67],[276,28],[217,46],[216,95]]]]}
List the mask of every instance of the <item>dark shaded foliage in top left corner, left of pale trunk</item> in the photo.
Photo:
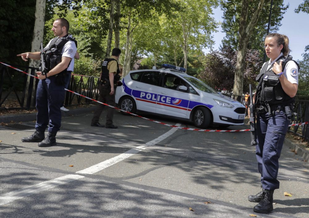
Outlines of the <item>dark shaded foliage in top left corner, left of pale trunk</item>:
{"type": "Polygon", "coordinates": [[[23,64],[17,54],[31,50],[35,21],[35,0],[2,0],[0,3],[0,60],[23,64]]]}

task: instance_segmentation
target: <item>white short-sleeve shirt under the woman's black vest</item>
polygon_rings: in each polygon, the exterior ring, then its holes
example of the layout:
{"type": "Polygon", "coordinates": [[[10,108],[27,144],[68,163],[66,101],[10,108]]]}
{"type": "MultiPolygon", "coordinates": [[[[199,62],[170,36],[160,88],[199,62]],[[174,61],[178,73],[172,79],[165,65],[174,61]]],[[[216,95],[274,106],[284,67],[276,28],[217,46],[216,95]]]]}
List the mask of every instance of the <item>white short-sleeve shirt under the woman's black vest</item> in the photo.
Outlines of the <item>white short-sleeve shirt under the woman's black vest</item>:
{"type": "MultiPolygon", "coordinates": [[[[268,62],[265,62],[264,64],[268,64],[267,70],[273,68],[273,64],[282,55],[283,54],[281,53],[274,61],[271,61],[271,59],[269,59],[268,62]]],[[[264,64],[263,64],[263,66],[264,66],[264,64]]],[[[283,75],[286,77],[286,79],[288,81],[290,81],[292,84],[298,84],[298,66],[294,61],[288,61],[286,63],[286,67],[284,68],[284,70],[282,72],[283,72],[283,75]]]]}

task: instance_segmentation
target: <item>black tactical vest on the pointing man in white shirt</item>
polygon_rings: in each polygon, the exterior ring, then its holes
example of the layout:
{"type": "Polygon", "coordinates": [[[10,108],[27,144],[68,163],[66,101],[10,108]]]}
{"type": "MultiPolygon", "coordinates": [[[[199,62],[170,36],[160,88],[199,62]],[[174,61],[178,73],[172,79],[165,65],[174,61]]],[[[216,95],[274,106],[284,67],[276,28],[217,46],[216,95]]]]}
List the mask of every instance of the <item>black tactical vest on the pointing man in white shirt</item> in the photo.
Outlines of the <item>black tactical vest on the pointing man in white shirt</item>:
{"type": "MultiPolygon", "coordinates": [[[[77,47],[77,41],[75,41],[74,38],[69,37],[69,34],[65,37],[55,37],[50,42],[49,46],[44,49],[45,50],[45,67],[48,70],[53,69],[61,62],[62,59],[62,50],[65,46],[66,42],[68,41],[74,41],[75,45],[77,47]]],[[[71,63],[71,62],[70,62],[71,63]]],[[[68,67],[70,66],[70,63],[68,67]]],[[[64,70],[62,72],[66,72],[67,70],[64,70]]],[[[62,73],[61,72],[61,73],[62,73]]]]}

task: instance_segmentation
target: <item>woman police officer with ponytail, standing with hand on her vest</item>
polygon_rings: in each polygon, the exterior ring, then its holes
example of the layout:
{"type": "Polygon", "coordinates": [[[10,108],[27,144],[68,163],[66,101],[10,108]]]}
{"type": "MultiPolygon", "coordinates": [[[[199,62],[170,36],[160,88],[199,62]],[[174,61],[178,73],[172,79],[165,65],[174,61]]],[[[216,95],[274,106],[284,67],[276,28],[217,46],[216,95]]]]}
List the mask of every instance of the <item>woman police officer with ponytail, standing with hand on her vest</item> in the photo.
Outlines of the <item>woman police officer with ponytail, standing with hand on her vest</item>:
{"type": "Polygon", "coordinates": [[[270,58],[256,77],[259,85],[255,94],[256,159],[263,190],[250,195],[248,200],[258,202],[253,210],[269,213],[273,210],[273,191],[279,189],[277,180],[281,149],[288,129],[294,96],[298,88],[298,64],[289,56],[289,39],[271,33],[265,38],[265,52],[270,58]]]}

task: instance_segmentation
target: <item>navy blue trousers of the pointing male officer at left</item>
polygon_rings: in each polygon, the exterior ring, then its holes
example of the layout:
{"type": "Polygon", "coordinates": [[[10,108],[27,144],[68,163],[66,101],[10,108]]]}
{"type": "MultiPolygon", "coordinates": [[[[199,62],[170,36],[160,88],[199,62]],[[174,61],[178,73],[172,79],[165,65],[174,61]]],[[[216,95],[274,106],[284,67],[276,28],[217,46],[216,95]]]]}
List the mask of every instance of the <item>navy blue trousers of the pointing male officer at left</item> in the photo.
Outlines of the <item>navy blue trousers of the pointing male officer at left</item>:
{"type": "Polygon", "coordinates": [[[61,127],[61,110],[65,98],[64,85],[57,85],[55,76],[40,80],[36,90],[36,130],[57,133],[61,127]]]}

